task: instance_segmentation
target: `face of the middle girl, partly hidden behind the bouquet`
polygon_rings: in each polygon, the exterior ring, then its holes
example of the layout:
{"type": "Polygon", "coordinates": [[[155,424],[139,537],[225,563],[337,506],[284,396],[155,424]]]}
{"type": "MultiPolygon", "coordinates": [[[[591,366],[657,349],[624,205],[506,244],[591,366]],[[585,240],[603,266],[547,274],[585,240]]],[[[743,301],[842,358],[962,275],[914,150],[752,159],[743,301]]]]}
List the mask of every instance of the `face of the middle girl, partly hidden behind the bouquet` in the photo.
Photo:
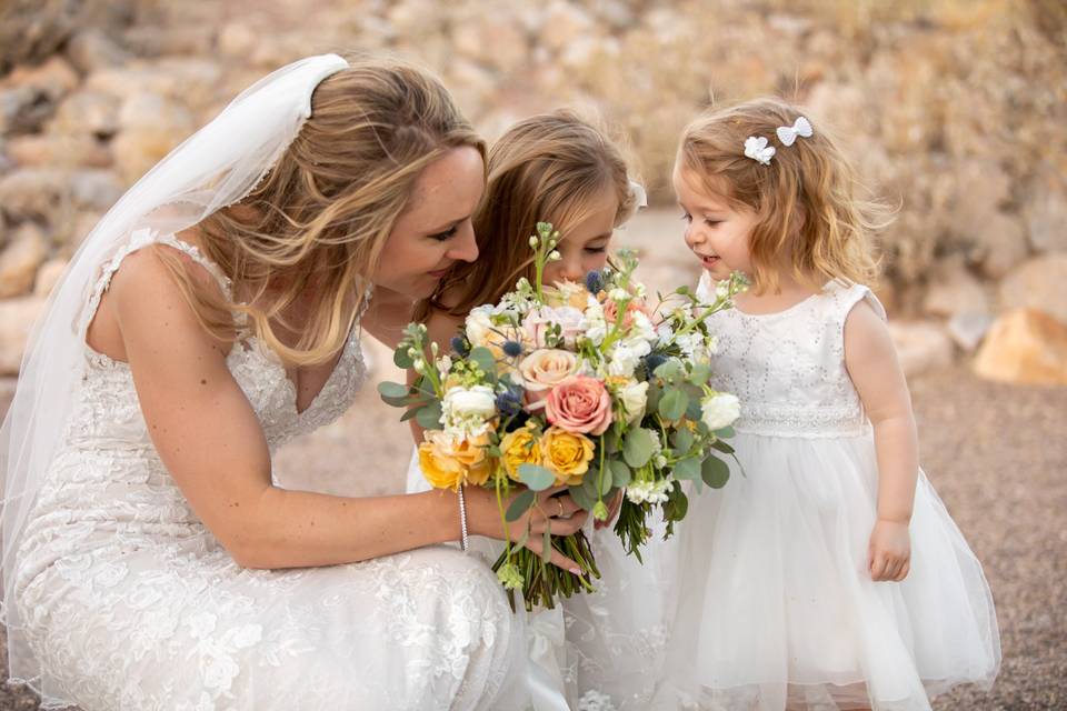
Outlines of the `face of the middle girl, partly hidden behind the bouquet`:
{"type": "Polygon", "coordinates": [[[590,211],[586,218],[561,233],[562,239],[556,249],[562,259],[545,266],[545,283],[565,280],[582,283],[587,273],[599,271],[608,263],[608,244],[619,210],[615,187],[601,190],[587,208],[590,211]]]}

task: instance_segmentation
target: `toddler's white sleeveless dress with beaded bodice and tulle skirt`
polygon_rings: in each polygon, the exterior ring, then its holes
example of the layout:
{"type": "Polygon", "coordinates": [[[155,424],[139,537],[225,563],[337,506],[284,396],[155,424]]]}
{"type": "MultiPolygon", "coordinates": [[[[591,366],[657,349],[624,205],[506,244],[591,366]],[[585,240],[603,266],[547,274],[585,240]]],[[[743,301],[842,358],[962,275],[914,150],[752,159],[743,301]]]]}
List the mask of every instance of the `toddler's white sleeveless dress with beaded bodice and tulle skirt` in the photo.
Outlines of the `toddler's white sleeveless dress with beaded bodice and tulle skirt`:
{"type": "Polygon", "coordinates": [[[928,709],[997,673],[981,565],[921,472],[910,573],[867,571],[878,467],[844,349],[861,299],[885,318],[867,288],[838,284],[780,313],[712,317],[711,385],[740,398],[740,467],[690,497],[658,708],[928,709]]]}

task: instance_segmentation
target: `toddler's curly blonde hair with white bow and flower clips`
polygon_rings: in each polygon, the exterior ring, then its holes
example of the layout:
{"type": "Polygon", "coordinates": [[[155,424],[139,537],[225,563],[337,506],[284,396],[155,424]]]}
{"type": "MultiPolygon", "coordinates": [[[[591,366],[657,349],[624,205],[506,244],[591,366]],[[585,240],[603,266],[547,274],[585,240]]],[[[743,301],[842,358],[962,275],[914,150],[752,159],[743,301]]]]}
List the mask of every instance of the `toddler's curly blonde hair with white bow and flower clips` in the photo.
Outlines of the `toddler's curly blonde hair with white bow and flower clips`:
{"type": "MultiPolygon", "coordinates": [[[[826,127],[811,121],[810,138],[786,147],[776,129],[806,116],[778,99],[710,110],[681,136],[678,168],[731,206],[757,214],[749,242],[756,293],[778,290],[787,258],[792,277],[815,290],[828,281],[872,283],[877,262],[871,231],[887,223],[886,209],[857,198],[858,180],[826,127]],[[745,156],[749,137],[776,149],[769,164],[745,156]]],[[[810,117],[808,117],[810,118],[810,117]]]]}

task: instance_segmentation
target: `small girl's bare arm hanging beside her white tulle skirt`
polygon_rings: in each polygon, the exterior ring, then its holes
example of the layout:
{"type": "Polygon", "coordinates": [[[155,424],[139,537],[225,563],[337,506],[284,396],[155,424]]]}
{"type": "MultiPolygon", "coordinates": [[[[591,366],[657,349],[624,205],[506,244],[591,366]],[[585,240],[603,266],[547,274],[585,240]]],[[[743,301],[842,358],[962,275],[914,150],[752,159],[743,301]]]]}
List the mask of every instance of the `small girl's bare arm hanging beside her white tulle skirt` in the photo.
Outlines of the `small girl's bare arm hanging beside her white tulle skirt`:
{"type": "Polygon", "coordinates": [[[908,524],[919,473],[911,395],[886,323],[865,301],[845,320],[845,365],[875,431],[878,520],[868,568],[874,580],[904,580],[910,561],[908,524]]]}

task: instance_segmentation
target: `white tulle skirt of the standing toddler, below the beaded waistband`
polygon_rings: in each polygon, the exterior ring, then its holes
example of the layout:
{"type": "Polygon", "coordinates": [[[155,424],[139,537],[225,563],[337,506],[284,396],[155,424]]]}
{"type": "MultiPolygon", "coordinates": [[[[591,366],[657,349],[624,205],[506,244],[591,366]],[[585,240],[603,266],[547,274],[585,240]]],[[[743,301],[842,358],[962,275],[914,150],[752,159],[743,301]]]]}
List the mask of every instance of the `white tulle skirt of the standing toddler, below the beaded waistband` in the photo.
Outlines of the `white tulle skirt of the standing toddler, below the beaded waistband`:
{"type": "MultiPolygon", "coordinates": [[[[659,709],[928,709],[991,684],[1000,641],[981,565],[920,472],[911,569],[872,582],[870,433],[737,435],[744,469],[690,497],[659,709]]],[[[674,602],[669,602],[674,605],[674,602]]]]}

